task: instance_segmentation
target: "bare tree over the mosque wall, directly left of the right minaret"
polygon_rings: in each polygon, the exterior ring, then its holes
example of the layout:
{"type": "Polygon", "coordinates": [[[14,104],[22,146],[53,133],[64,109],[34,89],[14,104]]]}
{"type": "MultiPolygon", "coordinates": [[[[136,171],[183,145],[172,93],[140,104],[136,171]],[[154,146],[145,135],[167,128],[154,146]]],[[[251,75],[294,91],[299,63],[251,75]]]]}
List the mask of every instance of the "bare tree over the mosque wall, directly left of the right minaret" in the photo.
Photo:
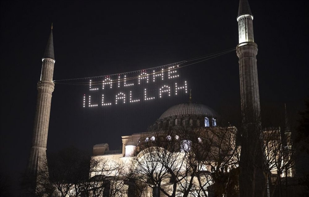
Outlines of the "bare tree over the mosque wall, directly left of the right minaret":
{"type": "MultiPolygon", "coordinates": [[[[237,129],[181,127],[177,132],[190,144],[187,157],[192,186],[187,193],[191,196],[208,196],[210,193],[237,196],[240,151],[236,143],[237,129]]],[[[186,195],[185,191],[183,193],[186,195]]]]}

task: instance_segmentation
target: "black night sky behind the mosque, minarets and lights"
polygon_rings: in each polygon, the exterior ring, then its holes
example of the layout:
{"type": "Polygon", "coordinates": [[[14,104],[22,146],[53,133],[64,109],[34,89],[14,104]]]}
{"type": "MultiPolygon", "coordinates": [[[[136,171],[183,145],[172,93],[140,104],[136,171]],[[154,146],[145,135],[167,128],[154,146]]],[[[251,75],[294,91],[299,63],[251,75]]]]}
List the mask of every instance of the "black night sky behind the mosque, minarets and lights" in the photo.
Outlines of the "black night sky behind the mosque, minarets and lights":
{"type": "MultiPolygon", "coordinates": [[[[249,1],[258,44],[260,101],[303,110],[308,95],[306,1],[249,1]]],[[[235,47],[238,1],[1,1],[1,173],[26,167],[41,58],[53,22],[54,79],[160,66],[235,47]]],[[[240,106],[236,52],[182,71],[193,100],[234,114],[240,106]],[[233,111],[234,110],[234,111],[233,111]]],[[[136,106],[82,107],[87,87],[56,84],[48,151],[97,143],[121,146],[187,96],[136,106]]]]}

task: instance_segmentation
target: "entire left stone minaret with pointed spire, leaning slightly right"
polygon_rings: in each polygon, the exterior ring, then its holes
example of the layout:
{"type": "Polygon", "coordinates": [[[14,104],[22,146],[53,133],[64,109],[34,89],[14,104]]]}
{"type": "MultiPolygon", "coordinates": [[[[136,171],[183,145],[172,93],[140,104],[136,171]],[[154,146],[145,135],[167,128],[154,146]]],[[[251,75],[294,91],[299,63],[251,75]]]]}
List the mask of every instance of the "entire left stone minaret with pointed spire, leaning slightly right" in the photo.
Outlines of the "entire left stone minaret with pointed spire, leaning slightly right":
{"type": "Polygon", "coordinates": [[[40,169],[45,168],[46,145],[49,125],[49,114],[54,90],[53,71],[55,57],[53,47],[53,26],[49,35],[49,40],[42,58],[42,71],[40,81],[37,83],[36,114],[32,136],[32,147],[28,164],[28,172],[36,177],[40,169]]]}

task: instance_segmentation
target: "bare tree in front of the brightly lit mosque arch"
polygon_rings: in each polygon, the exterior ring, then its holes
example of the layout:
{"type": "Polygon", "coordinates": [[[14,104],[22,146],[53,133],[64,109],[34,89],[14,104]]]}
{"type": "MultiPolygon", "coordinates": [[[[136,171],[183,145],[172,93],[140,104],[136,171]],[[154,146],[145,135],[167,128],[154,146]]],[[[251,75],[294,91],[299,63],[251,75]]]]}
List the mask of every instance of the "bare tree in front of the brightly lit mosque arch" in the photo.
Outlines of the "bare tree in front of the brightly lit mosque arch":
{"type": "MultiPolygon", "coordinates": [[[[153,189],[153,195],[178,195],[178,187],[190,174],[188,144],[174,131],[153,132],[142,138],[133,158],[135,179],[153,189]]],[[[190,185],[186,191],[190,190],[190,185]]]]}

